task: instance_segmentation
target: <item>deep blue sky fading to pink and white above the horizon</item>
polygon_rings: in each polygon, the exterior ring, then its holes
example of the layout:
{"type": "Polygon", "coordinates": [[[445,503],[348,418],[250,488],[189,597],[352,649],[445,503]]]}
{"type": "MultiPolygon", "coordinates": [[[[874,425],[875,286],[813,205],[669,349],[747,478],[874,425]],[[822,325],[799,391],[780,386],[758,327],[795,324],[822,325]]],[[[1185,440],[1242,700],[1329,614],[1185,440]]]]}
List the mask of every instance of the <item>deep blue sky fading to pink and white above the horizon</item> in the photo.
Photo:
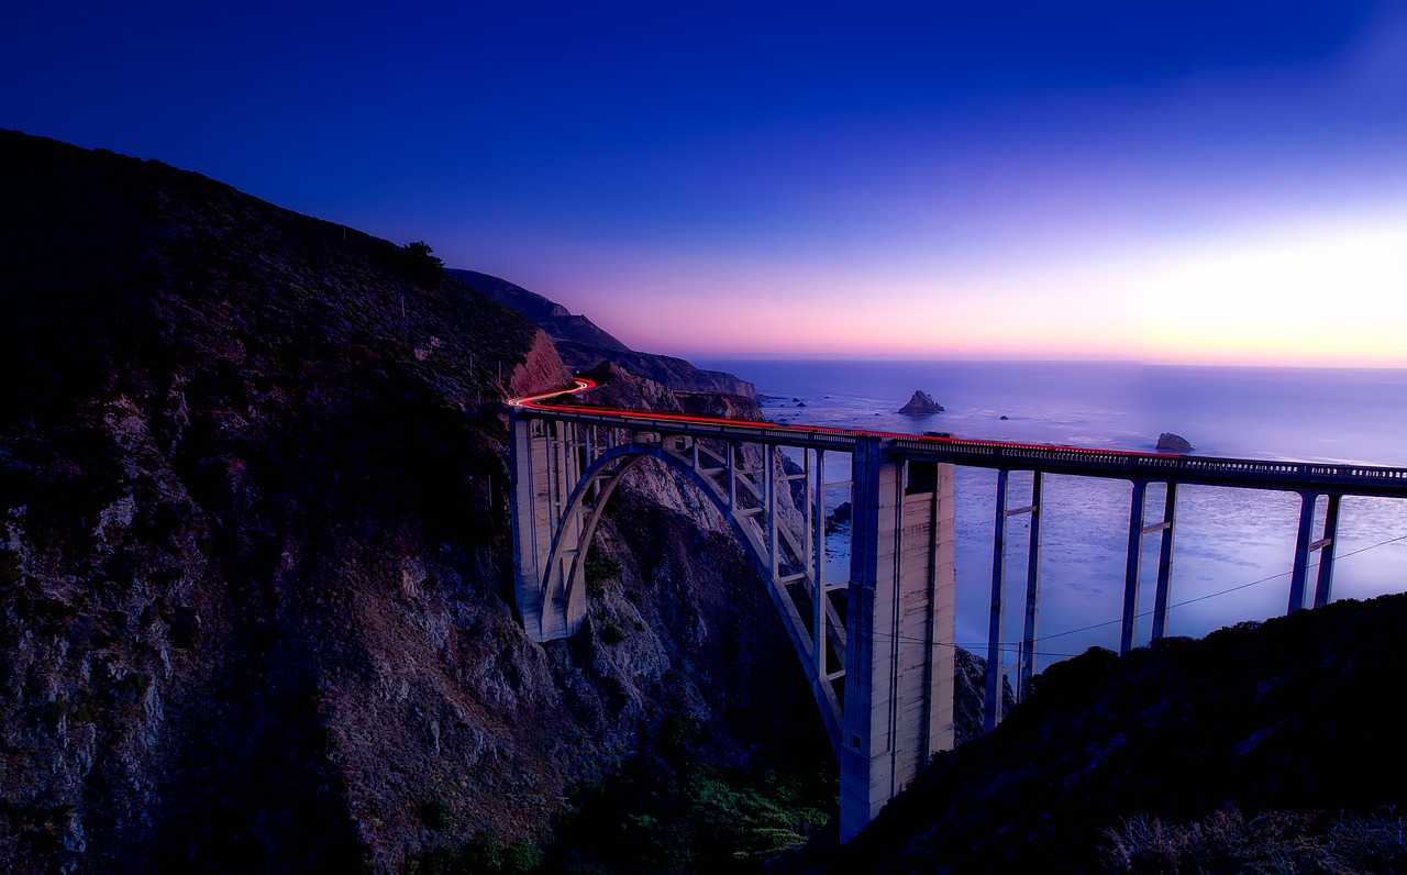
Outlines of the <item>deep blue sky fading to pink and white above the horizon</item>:
{"type": "Polygon", "coordinates": [[[62,3],[0,127],[680,356],[1407,367],[1407,4],[62,3]]]}

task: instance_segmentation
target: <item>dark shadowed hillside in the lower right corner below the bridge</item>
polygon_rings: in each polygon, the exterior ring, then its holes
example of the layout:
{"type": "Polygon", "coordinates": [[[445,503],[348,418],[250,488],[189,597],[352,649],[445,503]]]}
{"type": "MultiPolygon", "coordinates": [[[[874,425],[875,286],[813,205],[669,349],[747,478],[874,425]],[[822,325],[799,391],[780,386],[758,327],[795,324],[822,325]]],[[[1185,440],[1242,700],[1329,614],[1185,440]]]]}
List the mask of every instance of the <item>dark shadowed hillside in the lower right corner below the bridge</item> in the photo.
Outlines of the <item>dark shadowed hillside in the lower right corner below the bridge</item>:
{"type": "Polygon", "coordinates": [[[1057,663],[844,848],[778,872],[1403,872],[1407,595],[1057,663]]]}

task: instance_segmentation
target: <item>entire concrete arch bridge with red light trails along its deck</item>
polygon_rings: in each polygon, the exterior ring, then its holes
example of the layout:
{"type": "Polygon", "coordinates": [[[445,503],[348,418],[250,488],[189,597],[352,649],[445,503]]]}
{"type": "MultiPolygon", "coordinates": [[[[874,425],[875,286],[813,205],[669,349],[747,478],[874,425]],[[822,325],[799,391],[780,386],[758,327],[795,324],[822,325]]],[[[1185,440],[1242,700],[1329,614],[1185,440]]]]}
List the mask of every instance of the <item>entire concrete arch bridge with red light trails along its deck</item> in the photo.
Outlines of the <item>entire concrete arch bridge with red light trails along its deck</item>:
{"type": "MultiPolygon", "coordinates": [[[[578,380],[574,390],[591,388],[578,380]]],[[[806,425],[620,411],[567,392],[509,401],[518,608],[539,641],[575,633],[587,616],[585,554],[622,477],[656,459],[719,511],[761,573],[801,660],[840,765],[840,838],[848,841],[917,774],[954,746],[954,468],[996,470],[996,528],[983,729],[1000,719],[1003,681],[1017,699],[1036,668],[1041,485],[1047,474],[1131,484],[1120,651],[1137,637],[1142,544],[1158,535],[1151,639],[1164,637],[1172,585],[1178,487],[1202,484],[1300,495],[1286,611],[1331,599],[1344,495],[1407,498],[1407,468],[1214,459],[1168,453],[965,440],[806,425]],[[801,453],[784,466],[781,449],[801,453]],[[837,454],[848,464],[836,464],[837,454]],[[846,480],[827,480],[848,470],[846,480]],[[1013,504],[1009,475],[1030,471],[1013,504]],[[799,488],[794,488],[801,484],[799,488]],[[1165,484],[1148,520],[1150,484],[1165,484]],[[826,573],[826,491],[851,492],[850,570],[826,573]],[[799,497],[794,499],[794,495],[799,497]],[[1325,498],[1323,520],[1316,506],[1325,498]],[[1026,599],[1016,663],[1003,664],[1007,522],[1030,519],[1026,599]],[[1318,525],[1316,525],[1318,523],[1318,525]],[[1313,599],[1310,560],[1318,554],[1313,599]]],[[[836,536],[839,537],[839,536],[836,536]]]]}

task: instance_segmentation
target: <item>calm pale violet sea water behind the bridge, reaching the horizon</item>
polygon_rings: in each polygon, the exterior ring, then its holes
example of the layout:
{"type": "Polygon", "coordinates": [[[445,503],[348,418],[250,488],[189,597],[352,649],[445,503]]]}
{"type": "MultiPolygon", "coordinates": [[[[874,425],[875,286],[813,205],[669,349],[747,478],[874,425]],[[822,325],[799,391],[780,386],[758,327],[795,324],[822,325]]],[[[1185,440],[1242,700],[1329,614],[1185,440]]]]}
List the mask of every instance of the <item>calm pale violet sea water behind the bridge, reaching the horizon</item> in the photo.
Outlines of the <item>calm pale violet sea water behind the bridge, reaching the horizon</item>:
{"type": "MultiPolygon", "coordinates": [[[[696,364],[751,380],[767,395],[764,412],[777,422],[1134,450],[1152,449],[1159,432],[1176,432],[1192,442],[1196,454],[1407,467],[1403,370],[1068,362],[696,364]],[[947,409],[926,418],[896,414],[915,390],[927,391],[947,409]]],[[[843,478],[839,471],[837,478],[843,478]]],[[[1030,475],[1013,474],[1013,504],[1020,504],[1023,490],[1029,495],[1030,475]]],[[[1161,487],[1148,492],[1148,520],[1154,522],[1162,511],[1161,487]]],[[[958,470],[957,637],[978,651],[986,641],[995,494],[995,473],[958,470]]],[[[846,498],[836,494],[827,501],[834,506],[846,498]]],[[[1202,636],[1283,613],[1299,497],[1182,487],[1178,498],[1169,634],[1202,636]]],[[[1045,478],[1043,664],[1093,644],[1117,649],[1128,505],[1127,483],[1045,478]]],[[[1024,592],[1024,525],[1023,518],[1013,518],[1009,526],[1012,605],[1024,592]]],[[[1144,546],[1141,611],[1152,608],[1157,543],[1150,536],[1144,546]]],[[[837,539],[830,574],[843,580],[847,563],[843,539],[837,539]]],[[[1407,591],[1407,499],[1345,498],[1334,570],[1335,599],[1407,591]]],[[[1019,613],[1007,612],[1007,640],[1020,634],[1019,613]]],[[[1140,640],[1147,640],[1150,626],[1148,618],[1140,619],[1140,640]]]]}

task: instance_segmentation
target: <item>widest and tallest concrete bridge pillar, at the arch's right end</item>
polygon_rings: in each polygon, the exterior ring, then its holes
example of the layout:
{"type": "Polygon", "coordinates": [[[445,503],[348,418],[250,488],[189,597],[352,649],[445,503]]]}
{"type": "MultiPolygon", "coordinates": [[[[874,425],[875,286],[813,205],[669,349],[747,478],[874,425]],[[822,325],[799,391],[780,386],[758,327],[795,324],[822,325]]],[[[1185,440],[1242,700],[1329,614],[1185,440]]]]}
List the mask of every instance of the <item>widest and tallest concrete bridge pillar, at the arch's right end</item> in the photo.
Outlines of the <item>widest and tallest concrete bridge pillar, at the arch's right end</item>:
{"type": "Polygon", "coordinates": [[[841,841],[954,744],[953,466],[861,436],[853,471],[841,841]]]}

